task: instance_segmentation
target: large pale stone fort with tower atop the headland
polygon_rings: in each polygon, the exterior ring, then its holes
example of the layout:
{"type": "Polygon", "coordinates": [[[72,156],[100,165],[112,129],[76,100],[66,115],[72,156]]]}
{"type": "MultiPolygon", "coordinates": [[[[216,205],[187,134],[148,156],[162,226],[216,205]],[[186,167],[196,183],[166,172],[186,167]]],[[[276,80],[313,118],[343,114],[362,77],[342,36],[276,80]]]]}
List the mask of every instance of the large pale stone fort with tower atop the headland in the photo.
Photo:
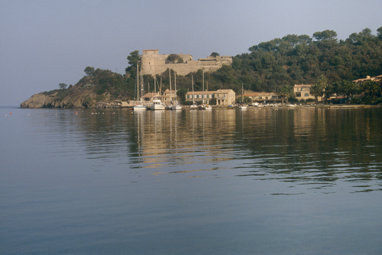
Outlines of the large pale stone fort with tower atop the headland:
{"type": "Polygon", "coordinates": [[[213,72],[222,67],[223,65],[232,65],[232,58],[230,56],[216,56],[199,58],[198,60],[192,60],[190,54],[177,54],[183,58],[183,63],[170,62],[167,58],[169,54],[159,55],[159,50],[143,50],[143,54],[140,55],[142,74],[150,74],[152,76],[161,74],[167,70],[167,68],[173,69],[179,75],[187,75],[191,72],[196,72],[199,69],[203,69],[205,72],[213,72]]]}

